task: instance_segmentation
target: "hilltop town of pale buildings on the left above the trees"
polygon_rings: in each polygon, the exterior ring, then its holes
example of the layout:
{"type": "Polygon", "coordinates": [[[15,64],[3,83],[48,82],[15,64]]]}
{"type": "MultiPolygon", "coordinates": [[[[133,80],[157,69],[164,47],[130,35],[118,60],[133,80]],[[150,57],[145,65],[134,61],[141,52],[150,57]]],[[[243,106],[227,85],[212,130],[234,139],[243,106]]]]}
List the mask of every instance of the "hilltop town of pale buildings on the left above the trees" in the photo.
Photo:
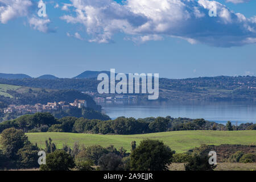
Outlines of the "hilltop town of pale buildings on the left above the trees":
{"type": "Polygon", "coordinates": [[[4,113],[18,113],[18,114],[27,114],[27,113],[52,113],[55,110],[68,110],[72,107],[87,107],[87,102],[85,100],[76,99],[72,103],[66,103],[64,101],[60,102],[48,102],[47,105],[35,104],[35,105],[9,105],[4,109],[4,113]]]}

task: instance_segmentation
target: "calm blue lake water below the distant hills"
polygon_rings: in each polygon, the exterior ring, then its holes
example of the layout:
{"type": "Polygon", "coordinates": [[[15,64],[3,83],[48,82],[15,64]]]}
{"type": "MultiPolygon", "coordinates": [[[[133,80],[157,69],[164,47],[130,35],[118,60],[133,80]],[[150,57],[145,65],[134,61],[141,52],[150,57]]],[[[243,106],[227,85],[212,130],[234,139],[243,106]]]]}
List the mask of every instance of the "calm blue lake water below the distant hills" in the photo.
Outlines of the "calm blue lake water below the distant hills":
{"type": "Polygon", "coordinates": [[[127,104],[109,103],[102,104],[104,112],[110,118],[120,116],[146,118],[146,117],[187,117],[204,118],[218,123],[256,123],[256,103],[241,102],[205,102],[205,103],[148,103],[127,104]]]}

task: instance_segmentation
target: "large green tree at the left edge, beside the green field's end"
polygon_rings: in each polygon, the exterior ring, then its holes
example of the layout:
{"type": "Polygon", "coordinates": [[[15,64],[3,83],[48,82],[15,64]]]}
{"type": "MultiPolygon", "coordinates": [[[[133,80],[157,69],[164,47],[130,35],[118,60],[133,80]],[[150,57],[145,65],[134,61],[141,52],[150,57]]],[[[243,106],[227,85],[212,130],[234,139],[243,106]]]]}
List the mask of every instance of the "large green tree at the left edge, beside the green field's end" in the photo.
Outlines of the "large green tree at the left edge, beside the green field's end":
{"type": "Polygon", "coordinates": [[[0,138],[3,155],[6,155],[13,160],[16,159],[18,150],[29,143],[30,142],[24,132],[14,128],[3,130],[0,138]]]}

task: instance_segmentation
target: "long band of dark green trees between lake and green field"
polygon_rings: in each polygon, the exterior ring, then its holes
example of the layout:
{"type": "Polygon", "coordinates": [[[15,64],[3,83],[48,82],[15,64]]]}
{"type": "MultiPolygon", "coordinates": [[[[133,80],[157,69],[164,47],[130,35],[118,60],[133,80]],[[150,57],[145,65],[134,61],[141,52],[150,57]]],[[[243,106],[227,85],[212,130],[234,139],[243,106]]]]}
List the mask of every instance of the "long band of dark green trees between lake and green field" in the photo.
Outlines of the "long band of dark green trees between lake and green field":
{"type": "MultiPolygon", "coordinates": [[[[102,117],[107,119],[104,115],[102,117]]],[[[106,121],[71,116],[57,119],[50,113],[36,113],[22,115],[19,118],[0,123],[0,133],[10,127],[30,133],[48,131],[130,135],[179,130],[255,130],[256,125],[245,123],[234,127],[231,122],[228,122],[224,126],[215,122],[205,121],[204,119],[172,118],[169,116],[144,119],[119,117],[106,121]]]]}

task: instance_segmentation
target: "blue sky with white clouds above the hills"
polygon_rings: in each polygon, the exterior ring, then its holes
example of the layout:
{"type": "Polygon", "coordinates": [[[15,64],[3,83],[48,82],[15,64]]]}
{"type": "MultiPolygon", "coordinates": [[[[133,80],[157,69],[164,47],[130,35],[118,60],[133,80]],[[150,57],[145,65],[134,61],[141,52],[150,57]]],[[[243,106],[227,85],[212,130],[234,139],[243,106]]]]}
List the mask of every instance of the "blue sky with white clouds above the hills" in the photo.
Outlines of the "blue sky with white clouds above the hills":
{"type": "Polygon", "coordinates": [[[255,76],[256,1],[0,0],[0,73],[71,78],[110,68],[255,76]]]}

